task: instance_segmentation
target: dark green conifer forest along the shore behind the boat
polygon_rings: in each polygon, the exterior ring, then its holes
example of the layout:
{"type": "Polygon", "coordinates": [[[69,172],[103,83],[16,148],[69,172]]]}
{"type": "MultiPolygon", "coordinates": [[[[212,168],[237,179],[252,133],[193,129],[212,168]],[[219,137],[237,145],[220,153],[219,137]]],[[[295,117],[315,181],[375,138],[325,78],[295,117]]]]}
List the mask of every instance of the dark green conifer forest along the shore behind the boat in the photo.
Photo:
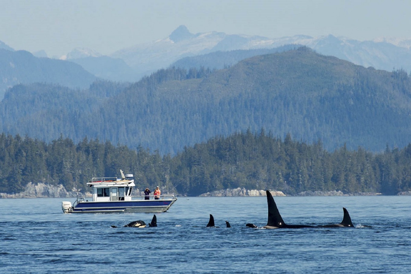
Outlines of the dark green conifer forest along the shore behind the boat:
{"type": "Polygon", "coordinates": [[[45,143],[28,136],[0,135],[0,192],[18,193],[28,182],[85,189],[92,177],[134,173],[136,186],[161,185],[163,191],[197,196],[219,189],[373,192],[393,195],[411,190],[411,144],[372,153],[346,146],[333,152],[321,140],[307,144],[284,140],[261,129],[217,136],[184,147],[171,157],[139,146],[113,145],[84,138],[45,143]]]}

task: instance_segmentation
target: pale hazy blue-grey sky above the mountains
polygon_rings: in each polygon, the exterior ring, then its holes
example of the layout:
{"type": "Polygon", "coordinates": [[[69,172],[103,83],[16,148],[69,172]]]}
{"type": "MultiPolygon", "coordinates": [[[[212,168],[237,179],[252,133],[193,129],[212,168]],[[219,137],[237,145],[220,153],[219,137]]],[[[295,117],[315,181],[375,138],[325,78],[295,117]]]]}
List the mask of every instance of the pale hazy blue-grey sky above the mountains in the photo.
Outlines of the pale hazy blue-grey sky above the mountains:
{"type": "Polygon", "coordinates": [[[60,56],[77,47],[109,55],[190,32],[357,40],[411,37],[409,0],[0,0],[0,41],[60,56]]]}

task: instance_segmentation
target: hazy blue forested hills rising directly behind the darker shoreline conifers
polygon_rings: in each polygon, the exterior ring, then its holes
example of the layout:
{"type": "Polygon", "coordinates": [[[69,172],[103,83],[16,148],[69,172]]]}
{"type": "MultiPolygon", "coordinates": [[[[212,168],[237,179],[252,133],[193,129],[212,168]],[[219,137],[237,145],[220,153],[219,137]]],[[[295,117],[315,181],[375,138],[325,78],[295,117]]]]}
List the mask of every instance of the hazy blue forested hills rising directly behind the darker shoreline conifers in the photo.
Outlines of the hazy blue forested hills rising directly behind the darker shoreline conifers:
{"type": "Polygon", "coordinates": [[[255,56],[227,69],[162,69],[132,85],[90,90],[16,86],[0,104],[0,132],[45,141],[60,134],[139,145],[164,155],[214,136],[265,128],[329,151],[381,152],[411,137],[411,78],[308,48],[255,56]],[[96,93],[97,92],[97,93],[96,93]]]}

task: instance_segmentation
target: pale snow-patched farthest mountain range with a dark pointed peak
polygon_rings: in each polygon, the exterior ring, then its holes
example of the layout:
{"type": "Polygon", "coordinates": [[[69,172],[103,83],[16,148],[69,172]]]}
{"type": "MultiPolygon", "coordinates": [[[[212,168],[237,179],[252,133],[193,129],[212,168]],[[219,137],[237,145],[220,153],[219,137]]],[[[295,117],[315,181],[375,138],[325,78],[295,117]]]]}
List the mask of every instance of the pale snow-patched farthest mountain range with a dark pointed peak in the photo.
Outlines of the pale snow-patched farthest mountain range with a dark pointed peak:
{"type": "MultiPolygon", "coordinates": [[[[374,41],[357,41],[333,35],[267,38],[227,35],[215,31],[193,34],[184,25],[164,39],[121,49],[110,56],[124,60],[137,74],[144,75],[168,67],[185,57],[218,51],[270,49],[290,44],[308,46],[323,55],[335,56],[364,67],[411,71],[411,39],[381,38],[374,41]]],[[[231,64],[233,63],[227,65],[231,64]]]]}

